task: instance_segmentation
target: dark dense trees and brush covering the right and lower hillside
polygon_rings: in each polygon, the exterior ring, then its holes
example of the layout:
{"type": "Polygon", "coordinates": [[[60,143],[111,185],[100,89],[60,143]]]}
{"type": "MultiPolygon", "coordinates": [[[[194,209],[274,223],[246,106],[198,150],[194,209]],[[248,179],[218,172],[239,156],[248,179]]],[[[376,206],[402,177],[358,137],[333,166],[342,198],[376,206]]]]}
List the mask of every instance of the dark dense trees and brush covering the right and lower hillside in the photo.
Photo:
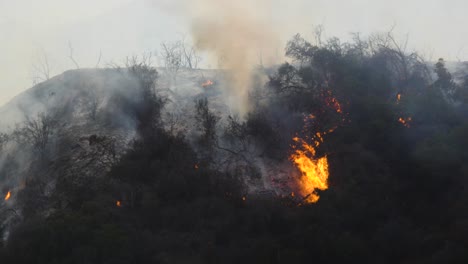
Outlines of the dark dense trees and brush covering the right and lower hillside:
{"type": "Polygon", "coordinates": [[[134,65],[142,96],[123,110],[137,123],[132,147],[102,177],[59,177],[52,190],[28,179],[2,263],[465,262],[468,75],[453,77],[442,59],[432,70],[389,35],[322,45],[298,35],[286,51],[291,62],[265,70],[253,109],[223,135],[209,101],[195,103],[195,143],[164,129],[157,72],[134,65]],[[250,194],[254,164],[213,165],[218,151],[241,155],[226,142],[255,142],[283,162],[296,133],[331,129],[318,203],[250,194]]]}

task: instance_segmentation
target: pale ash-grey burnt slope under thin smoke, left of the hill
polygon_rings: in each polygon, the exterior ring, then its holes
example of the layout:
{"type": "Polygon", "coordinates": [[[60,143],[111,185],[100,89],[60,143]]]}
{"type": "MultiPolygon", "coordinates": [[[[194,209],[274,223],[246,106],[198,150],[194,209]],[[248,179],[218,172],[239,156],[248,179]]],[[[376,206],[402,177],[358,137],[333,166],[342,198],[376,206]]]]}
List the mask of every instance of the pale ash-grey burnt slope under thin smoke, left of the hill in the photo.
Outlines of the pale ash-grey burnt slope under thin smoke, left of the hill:
{"type": "MultiPolygon", "coordinates": [[[[6,132],[1,185],[20,188],[42,160],[51,166],[41,166],[34,174],[50,180],[57,176],[53,171],[74,171],[95,159],[98,153],[93,152],[104,151],[89,149],[96,142],[108,145],[106,151],[121,150],[134,136],[130,110],[137,108],[138,96],[137,81],[114,69],[67,71],[18,95],[0,109],[0,127],[6,132]]],[[[87,166],[81,172],[93,170],[87,166]]]]}

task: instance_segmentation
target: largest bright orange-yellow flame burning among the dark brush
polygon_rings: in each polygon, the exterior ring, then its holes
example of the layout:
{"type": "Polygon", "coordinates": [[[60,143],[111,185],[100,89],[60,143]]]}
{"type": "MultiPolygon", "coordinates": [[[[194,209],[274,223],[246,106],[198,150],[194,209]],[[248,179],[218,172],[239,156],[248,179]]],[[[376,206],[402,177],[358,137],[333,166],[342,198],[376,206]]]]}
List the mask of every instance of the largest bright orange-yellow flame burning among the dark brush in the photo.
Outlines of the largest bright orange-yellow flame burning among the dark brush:
{"type": "Polygon", "coordinates": [[[328,159],[326,156],[317,158],[315,150],[323,142],[322,135],[317,133],[313,144],[298,137],[293,140],[299,145],[290,156],[301,171],[299,192],[306,203],[315,203],[320,198],[316,190],[328,189],[328,159]]]}

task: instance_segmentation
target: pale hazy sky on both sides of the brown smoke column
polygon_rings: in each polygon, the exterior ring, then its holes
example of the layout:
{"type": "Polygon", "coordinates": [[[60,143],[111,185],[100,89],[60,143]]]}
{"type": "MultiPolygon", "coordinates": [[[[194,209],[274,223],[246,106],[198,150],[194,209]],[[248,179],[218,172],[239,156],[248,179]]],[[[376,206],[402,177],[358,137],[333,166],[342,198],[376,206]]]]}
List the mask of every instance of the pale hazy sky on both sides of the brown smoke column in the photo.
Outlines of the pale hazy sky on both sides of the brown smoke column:
{"type": "MultiPolygon", "coordinates": [[[[351,32],[409,34],[409,45],[426,57],[468,60],[466,0],[263,0],[262,12],[285,41],[311,35],[322,24],[327,36],[351,32]]],[[[197,0],[0,0],[0,104],[32,85],[32,65],[47,54],[52,74],[119,62],[155,51],[161,41],[190,36],[190,8],[197,0]]],[[[255,10],[254,10],[255,12],[255,10]]]]}

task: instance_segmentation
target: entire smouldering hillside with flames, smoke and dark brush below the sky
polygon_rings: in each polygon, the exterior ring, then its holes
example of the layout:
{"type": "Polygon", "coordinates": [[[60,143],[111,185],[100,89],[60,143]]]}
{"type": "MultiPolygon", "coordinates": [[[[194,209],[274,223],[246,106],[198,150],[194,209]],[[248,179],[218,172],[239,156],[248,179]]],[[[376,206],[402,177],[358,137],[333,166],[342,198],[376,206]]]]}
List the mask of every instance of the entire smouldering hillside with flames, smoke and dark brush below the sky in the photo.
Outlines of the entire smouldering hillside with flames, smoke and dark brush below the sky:
{"type": "Polygon", "coordinates": [[[373,47],[296,35],[248,87],[143,62],[36,85],[0,108],[0,259],[463,263],[468,75],[373,47]]]}

